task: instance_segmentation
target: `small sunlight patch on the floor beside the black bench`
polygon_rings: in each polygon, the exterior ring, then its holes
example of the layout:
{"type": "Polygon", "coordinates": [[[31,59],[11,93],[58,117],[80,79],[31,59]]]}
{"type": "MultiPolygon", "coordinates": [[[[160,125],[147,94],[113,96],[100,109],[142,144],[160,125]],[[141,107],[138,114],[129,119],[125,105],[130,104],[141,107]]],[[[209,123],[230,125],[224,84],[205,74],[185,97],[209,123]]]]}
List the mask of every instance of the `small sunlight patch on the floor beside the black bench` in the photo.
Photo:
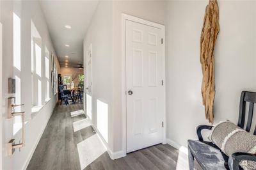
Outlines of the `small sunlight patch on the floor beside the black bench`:
{"type": "Polygon", "coordinates": [[[177,159],[176,170],[189,169],[188,166],[188,148],[181,146],[179,148],[179,156],[177,159]]]}

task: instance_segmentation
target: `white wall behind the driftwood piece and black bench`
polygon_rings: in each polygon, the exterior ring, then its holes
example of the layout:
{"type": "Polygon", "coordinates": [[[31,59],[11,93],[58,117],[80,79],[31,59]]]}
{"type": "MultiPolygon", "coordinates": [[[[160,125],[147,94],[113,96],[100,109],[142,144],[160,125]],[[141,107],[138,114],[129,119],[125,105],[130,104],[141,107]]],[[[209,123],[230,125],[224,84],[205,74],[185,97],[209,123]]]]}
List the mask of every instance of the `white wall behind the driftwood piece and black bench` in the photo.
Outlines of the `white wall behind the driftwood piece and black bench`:
{"type": "MultiPolygon", "coordinates": [[[[167,137],[177,146],[196,139],[207,124],[200,93],[200,33],[208,1],[168,1],[167,137]]],[[[218,1],[220,33],[216,42],[214,123],[237,123],[242,90],[256,91],[256,1],[218,1]]]]}

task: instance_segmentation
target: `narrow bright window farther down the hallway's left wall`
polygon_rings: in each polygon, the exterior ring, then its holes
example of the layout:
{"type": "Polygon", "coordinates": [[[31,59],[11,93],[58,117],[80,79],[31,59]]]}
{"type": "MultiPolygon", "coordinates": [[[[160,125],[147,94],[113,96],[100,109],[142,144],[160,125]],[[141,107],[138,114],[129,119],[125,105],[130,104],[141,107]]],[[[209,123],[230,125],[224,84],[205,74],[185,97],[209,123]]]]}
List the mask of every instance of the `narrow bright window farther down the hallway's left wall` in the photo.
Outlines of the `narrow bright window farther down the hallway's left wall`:
{"type": "Polygon", "coordinates": [[[50,99],[50,61],[49,50],[45,47],[45,102],[50,99]]]}

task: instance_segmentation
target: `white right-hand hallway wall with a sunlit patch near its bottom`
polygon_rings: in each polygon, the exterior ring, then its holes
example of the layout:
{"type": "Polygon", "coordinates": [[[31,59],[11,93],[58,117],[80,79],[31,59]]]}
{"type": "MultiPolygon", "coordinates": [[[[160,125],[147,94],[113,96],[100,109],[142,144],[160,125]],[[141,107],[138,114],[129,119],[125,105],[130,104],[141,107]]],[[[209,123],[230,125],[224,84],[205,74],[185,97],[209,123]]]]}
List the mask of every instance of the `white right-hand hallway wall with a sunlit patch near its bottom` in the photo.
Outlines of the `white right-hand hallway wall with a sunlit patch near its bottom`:
{"type": "MultiPolygon", "coordinates": [[[[88,31],[84,38],[84,66],[86,66],[86,50],[92,44],[92,123],[98,128],[99,134],[105,134],[104,139],[109,150],[113,150],[112,116],[113,116],[113,45],[112,45],[112,2],[100,1],[95,11],[88,31]],[[99,102],[108,105],[108,111],[100,109],[99,102]],[[108,114],[108,120],[104,118],[108,114]],[[100,125],[106,125],[100,130],[100,125]]],[[[84,75],[86,70],[84,69],[84,75]]]]}

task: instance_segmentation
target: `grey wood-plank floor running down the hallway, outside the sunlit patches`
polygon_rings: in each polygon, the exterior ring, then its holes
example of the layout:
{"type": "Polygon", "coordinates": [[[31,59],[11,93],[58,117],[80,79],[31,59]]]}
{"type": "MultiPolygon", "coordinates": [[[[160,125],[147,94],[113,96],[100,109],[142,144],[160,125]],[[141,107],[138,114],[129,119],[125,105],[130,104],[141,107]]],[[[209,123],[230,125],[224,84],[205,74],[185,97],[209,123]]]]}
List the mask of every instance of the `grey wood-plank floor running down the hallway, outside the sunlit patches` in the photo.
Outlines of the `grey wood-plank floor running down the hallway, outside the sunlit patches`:
{"type": "MultiPolygon", "coordinates": [[[[28,169],[81,169],[77,144],[95,135],[91,126],[74,132],[72,123],[85,116],[71,117],[70,112],[82,108],[80,104],[56,106],[28,169]]],[[[105,151],[84,169],[176,169],[178,155],[179,151],[169,144],[134,151],[116,160],[105,151]]]]}

